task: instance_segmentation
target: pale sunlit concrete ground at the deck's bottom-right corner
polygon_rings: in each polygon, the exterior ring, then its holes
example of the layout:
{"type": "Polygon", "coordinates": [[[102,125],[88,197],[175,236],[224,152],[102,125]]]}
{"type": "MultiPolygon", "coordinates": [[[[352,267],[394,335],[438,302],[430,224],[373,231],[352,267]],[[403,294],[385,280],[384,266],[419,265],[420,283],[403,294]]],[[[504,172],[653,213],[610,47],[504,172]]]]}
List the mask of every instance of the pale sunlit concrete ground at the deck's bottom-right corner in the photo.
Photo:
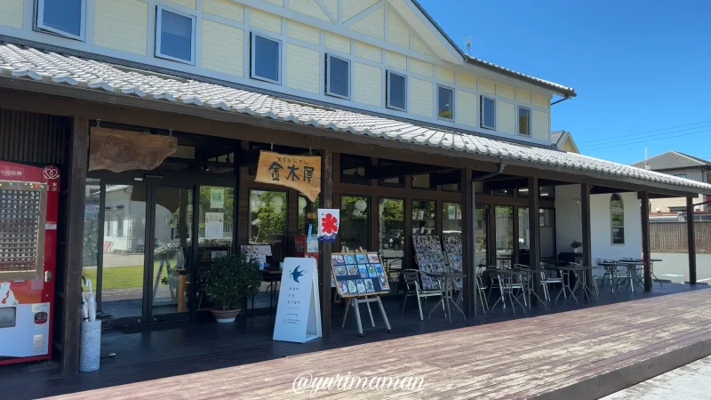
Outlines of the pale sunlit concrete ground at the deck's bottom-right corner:
{"type": "Polygon", "coordinates": [[[711,356],[708,356],[603,399],[711,399],[710,382],[711,356]]]}

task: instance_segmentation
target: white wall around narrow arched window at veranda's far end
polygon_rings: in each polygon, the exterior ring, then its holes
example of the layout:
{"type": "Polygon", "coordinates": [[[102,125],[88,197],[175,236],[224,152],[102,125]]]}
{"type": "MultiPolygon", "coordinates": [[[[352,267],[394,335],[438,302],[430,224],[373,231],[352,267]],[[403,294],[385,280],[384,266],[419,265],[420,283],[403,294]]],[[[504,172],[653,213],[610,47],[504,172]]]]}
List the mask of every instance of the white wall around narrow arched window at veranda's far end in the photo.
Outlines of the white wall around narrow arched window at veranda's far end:
{"type": "MultiPolygon", "coordinates": [[[[642,216],[636,192],[621,193],[625,204],[625,244],[612,244],[610,227],[611,195],[590,196],[590,230],[592,236],[592,260],[641,257],[642,216]]],[[[582,240],[579,185],[555,187],[555,236],[558,252],[571,252],[571,242],[582,240]]]]}

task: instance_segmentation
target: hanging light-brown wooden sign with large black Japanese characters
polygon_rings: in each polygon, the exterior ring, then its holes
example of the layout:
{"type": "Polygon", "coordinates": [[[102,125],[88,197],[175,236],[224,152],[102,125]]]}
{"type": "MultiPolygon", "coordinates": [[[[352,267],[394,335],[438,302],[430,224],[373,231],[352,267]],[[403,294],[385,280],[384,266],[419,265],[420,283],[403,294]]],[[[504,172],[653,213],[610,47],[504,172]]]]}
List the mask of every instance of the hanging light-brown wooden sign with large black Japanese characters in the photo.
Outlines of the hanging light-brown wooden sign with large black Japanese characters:
{"type": "Polygon", "coordinates": [[[309,200],[316,202],[316,197],[321,193],[321,157],[288,156],[261,151],[255,180],[299,190],[309,200]]]}

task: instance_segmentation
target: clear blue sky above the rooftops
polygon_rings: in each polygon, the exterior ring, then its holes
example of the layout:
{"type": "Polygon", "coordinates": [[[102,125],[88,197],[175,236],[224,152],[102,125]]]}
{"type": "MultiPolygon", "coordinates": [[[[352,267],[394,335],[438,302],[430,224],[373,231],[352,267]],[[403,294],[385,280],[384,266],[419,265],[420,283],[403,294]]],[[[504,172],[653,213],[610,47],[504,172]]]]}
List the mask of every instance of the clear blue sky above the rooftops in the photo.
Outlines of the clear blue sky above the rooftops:
{"type": "Polygon", "coordinates": [[[472,36],[472,56],[574,87],[551,127],[584,154],[631,164],[647,146],[711,160],[711,2],[419,3],[460,47],[472,36]]]}

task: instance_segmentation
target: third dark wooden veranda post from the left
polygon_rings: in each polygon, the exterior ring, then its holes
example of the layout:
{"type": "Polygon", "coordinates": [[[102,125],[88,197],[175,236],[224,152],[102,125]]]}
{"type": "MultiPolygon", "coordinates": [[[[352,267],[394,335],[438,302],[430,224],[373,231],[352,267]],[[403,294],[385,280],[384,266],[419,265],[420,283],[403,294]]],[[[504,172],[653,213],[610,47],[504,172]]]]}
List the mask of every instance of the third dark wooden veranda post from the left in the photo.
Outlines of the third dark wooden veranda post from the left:
{"type": "Polygon", "coordinates": [[[467,275],[463,279],[464,287],[464,313],[474,316],[476,308],[475,274],[475,208],[474,185],[472,184],[472,169],[461,170],[461,266],[462,272],[467,275]]]}

